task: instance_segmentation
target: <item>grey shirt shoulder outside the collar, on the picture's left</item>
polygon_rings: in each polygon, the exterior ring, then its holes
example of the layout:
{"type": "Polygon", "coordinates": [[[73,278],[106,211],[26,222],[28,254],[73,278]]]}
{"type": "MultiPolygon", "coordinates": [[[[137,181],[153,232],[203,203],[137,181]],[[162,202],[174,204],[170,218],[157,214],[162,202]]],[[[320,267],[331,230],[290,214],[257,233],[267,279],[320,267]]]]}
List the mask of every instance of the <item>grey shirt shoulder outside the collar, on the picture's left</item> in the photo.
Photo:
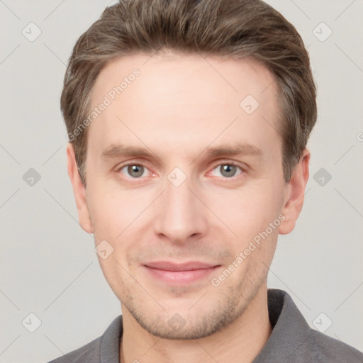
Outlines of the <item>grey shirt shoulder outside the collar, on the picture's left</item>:
{"type": "Polygon", "coordinates": [[[99,363],[101,337],[48,363],[99,363]]]}

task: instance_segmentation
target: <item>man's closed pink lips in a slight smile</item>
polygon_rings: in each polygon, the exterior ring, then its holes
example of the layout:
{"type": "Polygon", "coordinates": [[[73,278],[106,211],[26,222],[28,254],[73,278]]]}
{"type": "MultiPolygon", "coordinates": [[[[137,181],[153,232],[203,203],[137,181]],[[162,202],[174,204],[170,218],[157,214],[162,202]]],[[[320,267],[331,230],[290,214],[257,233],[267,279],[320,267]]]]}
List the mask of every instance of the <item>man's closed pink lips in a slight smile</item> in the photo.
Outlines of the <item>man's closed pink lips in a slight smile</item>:
{"type": "Polygon", "coordinates": [[[206,279],[220,267],[220,264],[208,264],[198,261],[177,264],[167,261],[158,261],[148,262],[143,264],[143,267],[153,279],[174,286],[186,286],[206,279]]]}

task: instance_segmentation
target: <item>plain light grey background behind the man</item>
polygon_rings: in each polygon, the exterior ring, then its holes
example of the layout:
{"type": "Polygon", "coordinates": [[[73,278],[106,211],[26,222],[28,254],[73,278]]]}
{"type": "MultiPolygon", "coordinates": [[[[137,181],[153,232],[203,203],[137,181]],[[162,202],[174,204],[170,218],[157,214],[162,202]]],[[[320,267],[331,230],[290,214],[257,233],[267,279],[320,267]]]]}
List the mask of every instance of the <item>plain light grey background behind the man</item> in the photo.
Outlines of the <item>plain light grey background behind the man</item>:
{"type": "MultiPolygon", "coordinates": [[[[313,328],[331,320],[327,335],[363,350],[363,1],[268,2],[303,36],[319,105],[305,205],[279,238],[269,287],[289,292],[313,328]],[[325,41],[322,22],[333,31],[325,41]],[[332,177],[323,186],[320,168],[332,177]]],[[[47,362],[121,313],[77,222],[59,107],[72,47],[108,3],[0,0],[0,363],[47,362]],[[22,34],[36,34],[30,22],[41,30],[33,42],[22,34]],[[30,168],[41,177],[33,186],[30,168]],[[29,313],[41,320],[34,333],[22,324],[36,328],[29,313]]]]}

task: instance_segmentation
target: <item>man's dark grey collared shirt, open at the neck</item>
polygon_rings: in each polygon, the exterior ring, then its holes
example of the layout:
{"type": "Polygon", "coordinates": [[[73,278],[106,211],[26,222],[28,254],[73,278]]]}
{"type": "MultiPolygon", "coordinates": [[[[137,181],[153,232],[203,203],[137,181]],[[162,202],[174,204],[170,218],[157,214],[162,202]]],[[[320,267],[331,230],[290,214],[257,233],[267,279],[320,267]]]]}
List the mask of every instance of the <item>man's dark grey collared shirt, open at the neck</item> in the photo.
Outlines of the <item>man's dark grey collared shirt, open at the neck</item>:
{"type": "MultiPolygon", "coordinates": [[[[268,290],[272,334],[253,363],[363,363],[363,354],[309,327],[285,291],[268,290]]],[[[119,363],[123,333],[119,315],[105,333],[49,363],[119,363]]]]}

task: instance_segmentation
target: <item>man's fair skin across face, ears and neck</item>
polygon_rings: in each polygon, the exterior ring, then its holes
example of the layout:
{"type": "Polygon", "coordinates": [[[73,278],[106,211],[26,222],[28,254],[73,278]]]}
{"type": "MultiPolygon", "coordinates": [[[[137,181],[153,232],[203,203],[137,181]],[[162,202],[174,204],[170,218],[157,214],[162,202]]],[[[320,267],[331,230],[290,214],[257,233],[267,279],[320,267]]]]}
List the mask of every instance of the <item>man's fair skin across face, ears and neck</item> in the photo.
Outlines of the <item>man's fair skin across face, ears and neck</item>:
{"type": "Polygon", "coordinates": [[[140,76],[88,127],[86,188],[67,148],[79,223],[96,245],[106,240],[113,247],[99,262],[121,301],[121,362],[252,362],[271,333],[267,273],[278,234],[294,229],[303,206],[310,152],[286,183],[277,87],[252,60],[128,55],[102,69],[91,108],[135,68],[140,76]],[[259,102],[250,115],[240,107],[247,95],[259,102]],[[207,153],[237,143],[260,153],[207,153]],[[150,155],[102,156],[118,144],[150,155]],[[223,173],[231,162],[238,167],[223,173]],[[139,165],[140,174],[125,164],[139,165]],[[179,186],[168,179],[176,167],[186,177],[179,186]],[[213,286],[211,279],[279,215],[279,227],[213,286]],[[145,268],[160,260],[216,268],[179,285],[145,268]],[[184,323],[179,330],[168,323],[175,314],[184,323]]]}

